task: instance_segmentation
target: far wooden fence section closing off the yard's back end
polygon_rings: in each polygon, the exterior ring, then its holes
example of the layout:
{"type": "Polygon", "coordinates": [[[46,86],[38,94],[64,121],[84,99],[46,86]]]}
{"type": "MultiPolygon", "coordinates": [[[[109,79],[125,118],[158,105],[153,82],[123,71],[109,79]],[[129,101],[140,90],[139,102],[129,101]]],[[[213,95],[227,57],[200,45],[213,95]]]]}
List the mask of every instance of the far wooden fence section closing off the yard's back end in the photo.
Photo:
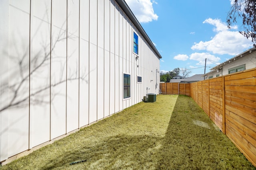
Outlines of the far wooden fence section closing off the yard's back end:
{"type": "Polygon", "coordinates": [[[160,83],[162,94],[184,94],[190,96],[190,84],[186,83],[160,83]]]}

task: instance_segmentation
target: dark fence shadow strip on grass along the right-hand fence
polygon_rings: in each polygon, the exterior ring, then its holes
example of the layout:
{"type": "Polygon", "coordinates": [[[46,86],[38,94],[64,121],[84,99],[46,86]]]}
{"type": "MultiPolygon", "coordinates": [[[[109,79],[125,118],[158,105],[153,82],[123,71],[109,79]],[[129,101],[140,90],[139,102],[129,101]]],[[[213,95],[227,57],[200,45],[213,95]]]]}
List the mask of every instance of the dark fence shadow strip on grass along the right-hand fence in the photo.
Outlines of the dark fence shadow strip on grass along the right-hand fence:
{"type": "Polygon", "coordinates": [[[157,169],[256,168],[188,96],[178,96],[157,169]]]}

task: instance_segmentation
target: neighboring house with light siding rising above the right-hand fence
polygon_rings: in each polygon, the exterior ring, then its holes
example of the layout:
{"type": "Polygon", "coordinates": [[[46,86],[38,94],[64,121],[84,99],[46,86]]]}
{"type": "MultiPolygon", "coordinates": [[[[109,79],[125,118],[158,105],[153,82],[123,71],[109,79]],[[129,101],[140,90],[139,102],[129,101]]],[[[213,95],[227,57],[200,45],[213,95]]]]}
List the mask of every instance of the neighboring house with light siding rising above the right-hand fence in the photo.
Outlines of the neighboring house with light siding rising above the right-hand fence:
{"type": "Polygon", "coordinates": [[[256,67],[256,48],[248,49],[213,68],[210,72],[203,74],[205,79],[224,76],[226,74],[248,70],[256,67]]]}

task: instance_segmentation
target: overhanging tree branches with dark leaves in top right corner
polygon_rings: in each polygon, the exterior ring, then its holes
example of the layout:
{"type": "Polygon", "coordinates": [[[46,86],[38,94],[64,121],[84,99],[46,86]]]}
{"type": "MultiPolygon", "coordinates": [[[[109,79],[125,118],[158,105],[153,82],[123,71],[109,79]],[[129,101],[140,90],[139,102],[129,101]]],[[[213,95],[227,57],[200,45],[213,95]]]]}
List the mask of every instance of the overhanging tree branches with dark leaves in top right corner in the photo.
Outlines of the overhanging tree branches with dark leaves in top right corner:
{"type": "Polygon", "coordinates": [[[256,47],[256,0],[234,0],[234,4],[228,12],[228,28],[232,23],[237,22],[237,18],[242,18],[243,30],[239,31],[244,37],[252,38],[254,47],[256,47]]]}

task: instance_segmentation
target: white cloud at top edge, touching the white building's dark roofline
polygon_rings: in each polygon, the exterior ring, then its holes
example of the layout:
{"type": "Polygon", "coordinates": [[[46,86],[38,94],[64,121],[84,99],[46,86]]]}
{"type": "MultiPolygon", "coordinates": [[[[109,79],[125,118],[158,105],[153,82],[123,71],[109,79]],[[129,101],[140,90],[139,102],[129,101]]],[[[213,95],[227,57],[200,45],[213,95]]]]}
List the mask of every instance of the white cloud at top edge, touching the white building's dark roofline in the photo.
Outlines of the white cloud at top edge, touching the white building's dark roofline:
{"type": "Polygon", "coordinates": [[[137,20],[141,23],[150,22],[157,20],[158,16],[154,13],[153,3],[157,4],[156,1],[151,0],[125,0],[137,20]]]}

